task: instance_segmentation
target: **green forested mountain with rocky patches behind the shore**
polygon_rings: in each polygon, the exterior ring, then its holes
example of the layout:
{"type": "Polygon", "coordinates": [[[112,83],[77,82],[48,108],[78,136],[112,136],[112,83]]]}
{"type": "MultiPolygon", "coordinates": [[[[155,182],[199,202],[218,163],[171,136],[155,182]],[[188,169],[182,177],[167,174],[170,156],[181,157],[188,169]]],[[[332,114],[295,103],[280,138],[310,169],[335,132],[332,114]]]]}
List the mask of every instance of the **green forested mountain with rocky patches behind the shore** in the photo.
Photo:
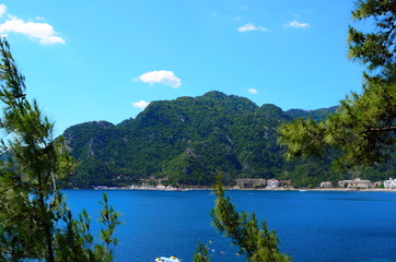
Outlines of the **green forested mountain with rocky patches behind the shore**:
{"type": "Polygon", "coordinates": [[[172,184],[211,184],[221,171],[237,177],[291,178],[296,186],[338,180],[329,160],[286,162],[277,129],[295,117],[325,117],[335,108],[282,111],[247,98],[209,92],[151,103],[135,119],[115,126],[80,123],[63,133],[79,166],[72,182],[123,186],[167,178],[172,184]]]}

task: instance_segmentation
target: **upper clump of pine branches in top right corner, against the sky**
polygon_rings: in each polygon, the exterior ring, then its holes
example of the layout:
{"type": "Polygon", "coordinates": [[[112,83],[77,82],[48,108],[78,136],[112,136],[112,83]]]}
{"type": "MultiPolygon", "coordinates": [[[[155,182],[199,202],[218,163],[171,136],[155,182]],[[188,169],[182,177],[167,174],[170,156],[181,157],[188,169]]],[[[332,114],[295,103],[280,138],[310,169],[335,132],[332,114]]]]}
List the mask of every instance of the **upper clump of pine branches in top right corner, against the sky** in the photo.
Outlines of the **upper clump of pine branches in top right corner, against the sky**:
{"type": "Polygon", "coordinates": [[[389,84],[396,81],[396,1],[395,0],[357,0],[352,19],[371,20],[374,32],[349,27],[349,58],[366,66],[366,81],[378,79],[389,84]]]}

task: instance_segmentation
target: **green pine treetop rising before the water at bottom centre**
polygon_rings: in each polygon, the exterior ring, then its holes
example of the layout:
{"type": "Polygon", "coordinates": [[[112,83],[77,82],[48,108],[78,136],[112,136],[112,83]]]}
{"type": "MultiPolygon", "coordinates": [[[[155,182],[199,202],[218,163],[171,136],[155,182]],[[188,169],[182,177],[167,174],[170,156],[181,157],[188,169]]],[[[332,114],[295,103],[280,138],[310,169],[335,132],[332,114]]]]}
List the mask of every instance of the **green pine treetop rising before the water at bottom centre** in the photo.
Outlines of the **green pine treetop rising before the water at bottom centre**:
{"type": "Polygon", "coordinates": [[[280,253],[278,237],[269,230],[266,222],[258,226],[255,213],[238,213],[230,196],[224,196],[221,179],[214,184],[216,205],[211,211],[214,227],[225,237],[231,238],[233,245],[240,248],[240,253],[254,262],[287,262],[290,258],[280,253]]]}

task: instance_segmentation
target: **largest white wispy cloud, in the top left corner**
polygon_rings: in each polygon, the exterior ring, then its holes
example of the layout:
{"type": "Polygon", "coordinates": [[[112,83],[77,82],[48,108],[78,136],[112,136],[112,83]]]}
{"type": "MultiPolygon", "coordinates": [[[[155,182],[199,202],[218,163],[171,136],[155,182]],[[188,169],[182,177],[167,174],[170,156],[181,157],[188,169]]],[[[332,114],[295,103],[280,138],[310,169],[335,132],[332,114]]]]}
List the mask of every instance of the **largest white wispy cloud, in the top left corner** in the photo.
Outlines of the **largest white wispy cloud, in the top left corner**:
{"type": "MultiPolygon", "coordinates": [[[[0,4],[0,17],[7,13],[7,7],[0,4]]],[[[48,23],[25,22],[22,19],[11,14],[7,16],[4,23],[0,23],[0,34],[8,33],[22,34],[30,37],[32,40],[38,41],[42,45],[65,44],[65,39],[58,36],[54,27],[48,23]]]]}

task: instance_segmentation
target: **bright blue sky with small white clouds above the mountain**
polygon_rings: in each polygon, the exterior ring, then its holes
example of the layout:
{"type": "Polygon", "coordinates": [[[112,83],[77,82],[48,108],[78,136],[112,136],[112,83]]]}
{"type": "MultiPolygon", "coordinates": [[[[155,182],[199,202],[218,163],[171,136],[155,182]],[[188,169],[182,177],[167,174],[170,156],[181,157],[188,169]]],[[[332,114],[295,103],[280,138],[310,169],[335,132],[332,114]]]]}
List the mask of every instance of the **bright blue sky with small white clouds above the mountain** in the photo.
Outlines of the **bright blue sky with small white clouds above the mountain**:
{"type": "Polygon", "coordinates": [[[209,91],[283,110],[361,90],[347,59],[352,0],[0,0],[27,97],[60,134],[209,91]]]}

